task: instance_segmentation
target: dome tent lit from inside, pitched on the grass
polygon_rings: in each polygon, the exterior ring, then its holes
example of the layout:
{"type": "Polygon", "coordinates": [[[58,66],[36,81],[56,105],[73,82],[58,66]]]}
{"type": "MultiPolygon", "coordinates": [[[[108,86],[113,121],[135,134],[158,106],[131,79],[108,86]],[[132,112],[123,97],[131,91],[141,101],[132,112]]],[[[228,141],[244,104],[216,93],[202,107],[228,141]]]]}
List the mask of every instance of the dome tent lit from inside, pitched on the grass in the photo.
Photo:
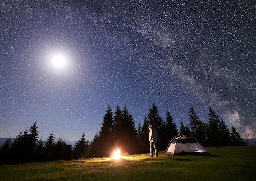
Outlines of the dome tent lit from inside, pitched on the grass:
{"type": "Polygon", "coordinates": [[[187,135],[177,135],[170,141],[165,154],[204,155],[209,154],[209,152],[195,138],[187,135]]]}

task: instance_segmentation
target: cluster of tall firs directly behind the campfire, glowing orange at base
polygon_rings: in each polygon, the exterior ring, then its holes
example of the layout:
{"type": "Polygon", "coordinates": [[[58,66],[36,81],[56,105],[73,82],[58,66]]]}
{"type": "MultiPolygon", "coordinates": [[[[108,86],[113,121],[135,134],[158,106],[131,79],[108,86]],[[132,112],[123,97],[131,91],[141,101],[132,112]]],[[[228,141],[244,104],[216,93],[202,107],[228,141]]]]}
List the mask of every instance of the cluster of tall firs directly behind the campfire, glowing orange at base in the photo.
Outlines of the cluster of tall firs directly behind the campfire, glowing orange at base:
{"type": "Polygon", "coordinates": [[[90,153],[93,150],[97,157],[110,156],[119,147],[123,152],[135,154],[138,153],[138,145],[135,122],[126,105],[123,110],[117,106],[115,115],[108,106],[99,135],[94,137],[90,145],[90,153]]]}

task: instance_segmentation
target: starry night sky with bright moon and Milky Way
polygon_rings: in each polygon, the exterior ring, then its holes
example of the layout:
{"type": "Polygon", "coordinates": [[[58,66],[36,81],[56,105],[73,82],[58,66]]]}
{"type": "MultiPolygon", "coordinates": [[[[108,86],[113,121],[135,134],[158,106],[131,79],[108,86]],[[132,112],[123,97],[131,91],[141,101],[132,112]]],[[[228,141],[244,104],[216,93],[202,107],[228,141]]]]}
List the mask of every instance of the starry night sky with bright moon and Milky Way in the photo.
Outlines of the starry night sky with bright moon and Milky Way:
{"type": "Polygon", "coordinates": [[[256,137],[255,0],[2,0],[0,16],[0,137],[37,121],[92,140],[108,105],[137,126],[153,103],[256,137]]]}

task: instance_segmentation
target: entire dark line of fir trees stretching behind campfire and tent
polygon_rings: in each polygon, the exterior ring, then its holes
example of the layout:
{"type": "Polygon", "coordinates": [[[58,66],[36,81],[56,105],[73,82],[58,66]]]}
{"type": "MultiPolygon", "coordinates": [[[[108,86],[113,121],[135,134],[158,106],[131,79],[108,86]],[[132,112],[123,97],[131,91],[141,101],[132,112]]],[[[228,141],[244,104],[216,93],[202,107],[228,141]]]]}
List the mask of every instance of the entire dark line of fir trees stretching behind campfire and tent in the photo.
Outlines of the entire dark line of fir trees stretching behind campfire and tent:
{"type": "Polygon", "coordinates": [[[117,148],[121,149],[123,154],[147,153],[149,152],[149,123],[153,123],[157,129],[159,150],[166,150],[168,143],[178,134],[192,136],[206,147],[245,145],[236,128],[232,125],[229,130],[225,121],[220,119],[211,107],[209,107],[208,123],[201,121],[194,108],[190,107],[189,124],[184,125],[181,121],[178,130],[169,110],[166,112],[166,118],[162,119],[155,103],[149,108],[143,124],[139,123],[137,128],[126,105],[123,109],[117,106],[115,112],[109,105],[103,116],[101,130],[91,142],[83,133],[72,147],[62,138],[55,140],[53,131],[46,141],[43,141],[42,138],[39,139],[35,121],[30,129],[20,132],[13,142],[9,138],[0,145],[0,164],[106,157],[117,148]]]}

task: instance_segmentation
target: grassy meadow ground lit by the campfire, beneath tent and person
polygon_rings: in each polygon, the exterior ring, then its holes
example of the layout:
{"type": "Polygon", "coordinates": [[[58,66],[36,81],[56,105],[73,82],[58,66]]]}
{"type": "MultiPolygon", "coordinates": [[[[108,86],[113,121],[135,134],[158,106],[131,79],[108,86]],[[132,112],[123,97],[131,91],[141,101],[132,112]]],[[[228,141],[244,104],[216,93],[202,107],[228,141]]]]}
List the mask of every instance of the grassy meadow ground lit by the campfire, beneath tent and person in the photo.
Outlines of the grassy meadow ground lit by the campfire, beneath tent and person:
{"type": "Polygon", "coordinates": [[[243,180],[256,178],[256,147],[209,147],[211,156],[171,156],[159,152],[0,166],[0,180],[243,180]]]}

